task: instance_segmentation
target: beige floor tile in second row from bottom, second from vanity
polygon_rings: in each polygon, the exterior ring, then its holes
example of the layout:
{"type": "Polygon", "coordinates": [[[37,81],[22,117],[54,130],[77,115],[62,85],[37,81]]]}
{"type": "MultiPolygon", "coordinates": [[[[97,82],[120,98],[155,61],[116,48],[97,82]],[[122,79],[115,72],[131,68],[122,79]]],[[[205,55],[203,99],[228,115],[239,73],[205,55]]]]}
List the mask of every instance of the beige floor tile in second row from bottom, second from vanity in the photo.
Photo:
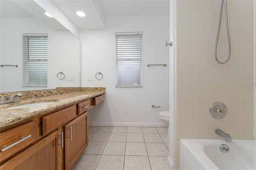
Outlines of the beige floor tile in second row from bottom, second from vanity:
{"type": "Polygon", "coordinates": [[[103,155],[124,155],[125,142],[107,142],[103,155]]]}

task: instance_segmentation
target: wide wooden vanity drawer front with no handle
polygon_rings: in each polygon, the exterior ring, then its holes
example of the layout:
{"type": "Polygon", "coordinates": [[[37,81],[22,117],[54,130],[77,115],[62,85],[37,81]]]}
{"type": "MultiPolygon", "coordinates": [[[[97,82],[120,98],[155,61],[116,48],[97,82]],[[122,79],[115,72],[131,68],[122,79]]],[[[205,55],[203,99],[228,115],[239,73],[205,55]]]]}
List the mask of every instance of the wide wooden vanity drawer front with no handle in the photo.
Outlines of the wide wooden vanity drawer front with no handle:
{"type": "Polygon", "coordinates": [[[45,117],[42,117],[43,135],[65,125],[76,117],[76,105],[62,109],[45,117]]]}

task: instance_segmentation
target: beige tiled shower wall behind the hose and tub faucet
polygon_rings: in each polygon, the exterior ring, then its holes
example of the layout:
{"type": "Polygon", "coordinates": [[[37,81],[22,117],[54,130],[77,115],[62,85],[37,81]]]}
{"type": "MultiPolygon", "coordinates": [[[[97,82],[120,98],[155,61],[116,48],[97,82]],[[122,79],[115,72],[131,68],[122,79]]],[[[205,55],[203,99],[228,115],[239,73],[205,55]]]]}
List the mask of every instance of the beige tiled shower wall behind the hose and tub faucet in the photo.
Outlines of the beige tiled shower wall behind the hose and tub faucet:
{"type": "MultiPolygon", "coordinates": [[[[174,167],[179,168],[179,140],[219,139],[220,128],[232,139],[254,139],[254,1],[228,0],[231,57],[218,64],[214,46],[221,0],[179,0],[176,3],[174,167]],[[222,102],[223,119],[209,107],[222,102]]],[[[228,56],[224,10],[218,59],[228,56]]]]}

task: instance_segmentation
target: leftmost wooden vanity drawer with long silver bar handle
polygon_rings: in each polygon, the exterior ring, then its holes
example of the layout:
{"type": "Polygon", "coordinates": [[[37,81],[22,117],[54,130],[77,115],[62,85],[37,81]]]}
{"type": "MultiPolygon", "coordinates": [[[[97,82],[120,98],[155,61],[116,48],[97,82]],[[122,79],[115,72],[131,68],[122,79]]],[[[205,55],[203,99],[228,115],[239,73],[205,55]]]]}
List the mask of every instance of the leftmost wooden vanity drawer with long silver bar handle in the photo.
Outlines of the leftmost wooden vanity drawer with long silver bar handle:
{"type": "Polygon", "coordinates": [[[0,134],[0,162],[26,148],[36,140],[34,121],[0,134]]]}

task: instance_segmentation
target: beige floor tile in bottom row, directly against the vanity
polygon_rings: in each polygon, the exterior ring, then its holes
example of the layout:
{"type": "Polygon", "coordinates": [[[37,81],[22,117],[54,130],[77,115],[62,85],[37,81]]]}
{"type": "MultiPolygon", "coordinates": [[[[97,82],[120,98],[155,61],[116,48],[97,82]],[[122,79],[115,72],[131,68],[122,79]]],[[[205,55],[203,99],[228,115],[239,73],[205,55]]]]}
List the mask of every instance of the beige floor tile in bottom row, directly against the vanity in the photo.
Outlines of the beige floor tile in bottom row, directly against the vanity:
{"type": "Polygon", "coordinates": [[[95,170],[99,160],[100,155],[82,154],[76,164],[74,164],[72,170],[95,170]]]}

